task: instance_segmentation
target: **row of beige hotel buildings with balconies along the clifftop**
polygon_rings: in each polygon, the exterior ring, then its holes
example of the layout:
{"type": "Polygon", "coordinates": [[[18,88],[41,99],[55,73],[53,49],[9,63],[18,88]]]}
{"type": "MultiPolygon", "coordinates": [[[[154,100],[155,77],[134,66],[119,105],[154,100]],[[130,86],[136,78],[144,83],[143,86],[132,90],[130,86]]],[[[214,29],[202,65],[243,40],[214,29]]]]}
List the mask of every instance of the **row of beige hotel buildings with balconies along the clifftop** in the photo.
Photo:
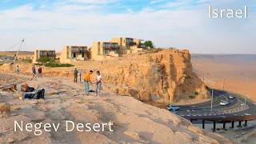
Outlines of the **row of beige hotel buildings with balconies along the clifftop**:
{"type": "MultiPolygon", "coordinates": [[[[122,54],[142,51],[142,41],[137,38],[112,38],[110,42],[93,42],[92,47],[64,46],[59,56],[61,63],[85,61],[88,59],[100,61],[107,58],[120,57],[122,54]]],[[[34,62],[41,57],[56,58],[55,50],[35,50],[34,62]]]]}

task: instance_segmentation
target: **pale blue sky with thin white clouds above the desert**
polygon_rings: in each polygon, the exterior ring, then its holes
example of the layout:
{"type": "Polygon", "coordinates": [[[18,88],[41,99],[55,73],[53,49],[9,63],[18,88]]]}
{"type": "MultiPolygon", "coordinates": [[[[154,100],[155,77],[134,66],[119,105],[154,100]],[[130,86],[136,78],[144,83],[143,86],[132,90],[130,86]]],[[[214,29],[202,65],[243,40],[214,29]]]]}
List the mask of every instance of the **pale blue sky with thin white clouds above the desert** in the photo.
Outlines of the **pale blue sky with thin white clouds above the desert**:
{"type": "Polygon", "coordinates": [[[0,0],[0,49],[22,38],[28,50],[60,51],[132,37],[191,53],[256,54],[255,16],[255,0],[0,0]],[[248,6],[249,18],[209,18],[209,6],[248,6]]]}

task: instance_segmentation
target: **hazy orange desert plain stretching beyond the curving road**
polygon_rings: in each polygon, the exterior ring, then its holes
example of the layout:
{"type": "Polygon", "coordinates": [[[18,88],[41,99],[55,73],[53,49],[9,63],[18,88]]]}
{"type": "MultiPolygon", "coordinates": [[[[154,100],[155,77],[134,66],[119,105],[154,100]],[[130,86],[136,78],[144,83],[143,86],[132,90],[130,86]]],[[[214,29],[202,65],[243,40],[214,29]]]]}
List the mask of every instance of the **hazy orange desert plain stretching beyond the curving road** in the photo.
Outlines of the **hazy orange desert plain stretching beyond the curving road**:
{"type": "MultiPolygon", "coordinates": [[[[214,83],[208,83],[218,89],[223,89],[225,78],[225,90],[234,91],[238,94],[248,95],[256,101],[256,60],[246,56],[219,57],[198,56],[191,58],[195,73],[206,79],[214,75],[214,83]],[[208,58],[209,57],[209,58],[208,58]],[[244,73],[244,74],[242,74],[244,73]],[[248,75],[248,86],[246,86],[246,74],[248,75]]],[[[256,55],[255,55],[256,57],[256,55]]],[[[206,83],[207,84],[207,83],[206,83]]]]}

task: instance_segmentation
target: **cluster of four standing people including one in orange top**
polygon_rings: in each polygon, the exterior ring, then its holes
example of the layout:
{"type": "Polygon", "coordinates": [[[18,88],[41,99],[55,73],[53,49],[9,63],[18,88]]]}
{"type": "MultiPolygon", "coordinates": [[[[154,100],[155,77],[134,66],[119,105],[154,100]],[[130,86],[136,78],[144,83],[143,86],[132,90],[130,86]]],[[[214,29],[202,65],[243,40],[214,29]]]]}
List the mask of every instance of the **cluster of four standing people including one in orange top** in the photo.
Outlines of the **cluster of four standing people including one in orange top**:
{"type": "MultiPolygon", "coordinates": [[[[84,76],[84,85],[85,85],[85,94],[86,96],[89,96],[89,85],[93,84],[90,80],[90,75],[93,74],[94,71],[90,70],[89,73],[86,73],[84,76]]],[[[101,89],[102,89],[102,76],[100,71],[96,72],[97,78],[96,78],[96,90],[95,90],[95,96],[99,96],[101,94],[101,89]]],[[[82,70],[79,70],[79,78],[80,82],[82,82],[82,70]]],[[[78,70],[75,68],[74,69],[74,82],[78,82],[78,70]]]]}

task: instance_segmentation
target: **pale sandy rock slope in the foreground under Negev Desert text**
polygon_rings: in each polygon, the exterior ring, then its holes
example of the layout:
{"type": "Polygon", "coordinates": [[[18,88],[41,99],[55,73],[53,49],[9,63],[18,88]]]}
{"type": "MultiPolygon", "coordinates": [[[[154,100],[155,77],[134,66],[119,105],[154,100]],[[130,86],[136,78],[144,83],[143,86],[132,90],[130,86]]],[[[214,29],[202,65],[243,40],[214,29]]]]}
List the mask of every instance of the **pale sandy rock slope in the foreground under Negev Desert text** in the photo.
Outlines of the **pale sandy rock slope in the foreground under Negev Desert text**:
{"type": "Polygon", "coordinates": [[[99,98],[94,94],[86,97],[83,84],[74,83],[71,78],[46,77],[31,81],[26,80],[30,78],[26,75],[4,75],[6,81],[24,78],[29,86],[44,88],[46,98],[21,100],[19,97],[24,94],[21,91],[18,94],[1,92],[0,101],[10,103],[11,110],[0,115],[0,143],[230,143],[221,135],[200,130],[168,110],[131,97],[115,96],[108,91],[102,91],[99,98]],[[15,132],[14,121],[23,121],[23,126],[29,122],[60,123],[61,126],[58,131],[42,131],[42,135],[35,136],[34,130],[15,132]],[[66,121],[112,122],[114,132],[107,126],[104,132],[66,132],[66,121]]]}

